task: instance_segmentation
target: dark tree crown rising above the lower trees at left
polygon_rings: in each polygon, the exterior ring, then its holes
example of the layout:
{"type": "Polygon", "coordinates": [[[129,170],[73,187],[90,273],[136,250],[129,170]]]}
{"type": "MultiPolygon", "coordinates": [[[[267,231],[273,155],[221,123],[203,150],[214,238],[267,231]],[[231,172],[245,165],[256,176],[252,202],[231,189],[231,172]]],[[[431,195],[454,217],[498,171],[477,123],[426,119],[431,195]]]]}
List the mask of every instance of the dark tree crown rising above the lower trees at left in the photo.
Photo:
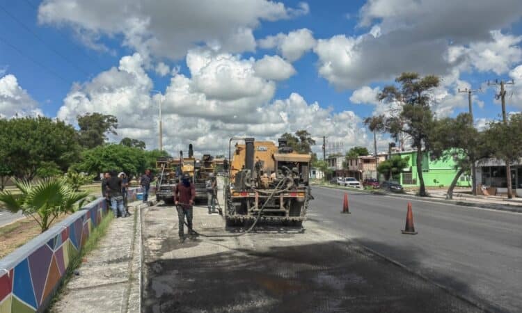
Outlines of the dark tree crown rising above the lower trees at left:
{"type": "Polygon", "coordinates": [[[114,115],[100,113],[87,113],[77,115],[79,130],[79,143],[88,149],[103,145],[107,140],[106,134],[116,135],[118,118],[114,115]]]}

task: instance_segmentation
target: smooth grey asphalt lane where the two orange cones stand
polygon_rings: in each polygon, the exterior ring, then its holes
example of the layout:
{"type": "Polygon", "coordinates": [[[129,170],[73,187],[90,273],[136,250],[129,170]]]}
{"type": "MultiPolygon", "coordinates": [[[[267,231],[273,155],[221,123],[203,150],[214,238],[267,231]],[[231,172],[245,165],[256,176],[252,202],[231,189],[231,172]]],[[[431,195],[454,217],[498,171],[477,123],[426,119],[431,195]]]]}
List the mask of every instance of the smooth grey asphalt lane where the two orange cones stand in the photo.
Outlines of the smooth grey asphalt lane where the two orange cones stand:
{"type": "Polygon", "coordinates": [[[487,310],[522,312],[522,214],[314,187],[308,218],[487,310]],[[401,234],[407,202],[416,235],[401,234]]]}

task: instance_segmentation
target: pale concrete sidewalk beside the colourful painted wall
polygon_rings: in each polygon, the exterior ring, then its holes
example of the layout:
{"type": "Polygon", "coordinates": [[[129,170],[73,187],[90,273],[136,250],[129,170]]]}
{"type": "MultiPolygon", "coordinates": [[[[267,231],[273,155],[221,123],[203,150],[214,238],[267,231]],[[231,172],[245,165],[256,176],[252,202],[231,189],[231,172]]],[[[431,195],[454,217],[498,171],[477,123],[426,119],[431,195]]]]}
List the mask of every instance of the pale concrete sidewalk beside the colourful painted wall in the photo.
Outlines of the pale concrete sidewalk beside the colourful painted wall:
{"type": "Polygon", "coordinates": [[[132,216],[111,222],[97,248],[84,257],[52,312],[140,312],[141,202],[132,216]]]}

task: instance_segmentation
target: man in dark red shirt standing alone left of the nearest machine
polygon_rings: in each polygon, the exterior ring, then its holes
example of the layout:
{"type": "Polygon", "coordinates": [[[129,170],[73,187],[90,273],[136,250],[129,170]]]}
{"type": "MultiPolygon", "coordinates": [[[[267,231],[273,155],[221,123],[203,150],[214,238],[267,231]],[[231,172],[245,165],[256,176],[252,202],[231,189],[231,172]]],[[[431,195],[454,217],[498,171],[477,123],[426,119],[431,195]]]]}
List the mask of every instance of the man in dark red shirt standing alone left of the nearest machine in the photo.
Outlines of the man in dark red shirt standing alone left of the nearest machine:
{"type": "Polygon", "coordinates": [[[177,209],[177,223],[179,225],[180,243],[185,241],[183,225],[185,216],[187,216],[187,225],[189,226],[189,238],[194,239],[195,234],[192,231],[192,204],[196,198],[196,187],[190,181],[190,175],[184,173],[181,182],[174,189],[174,203],[177,209]]]}

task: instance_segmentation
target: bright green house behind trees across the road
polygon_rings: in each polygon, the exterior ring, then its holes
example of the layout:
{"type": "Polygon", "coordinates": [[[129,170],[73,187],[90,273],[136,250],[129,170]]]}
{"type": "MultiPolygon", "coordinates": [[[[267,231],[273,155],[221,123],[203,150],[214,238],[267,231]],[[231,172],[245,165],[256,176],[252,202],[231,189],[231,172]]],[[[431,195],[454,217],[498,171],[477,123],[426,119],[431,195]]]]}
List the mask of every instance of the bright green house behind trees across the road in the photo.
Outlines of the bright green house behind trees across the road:
{"type": "MultiPolygon", "coordinates": [[[[393,152],[393,155],[400,155],[402,158],[409,157],[409,164],[400,173],[400,177],[395,177],[402,186],[420,186],[417,175],[417,152],[416,151],[402,151],[393,152]]],[[[422,177],[424,178],[425,186],[439,187],[450,186],[457,170],[452,159],[432,161],[429,158],[429,152],[423,152],[422,155],[422,177]]],[[[471,186],[471,179],[468,175],[459,177],[457,186],[471,186]]]]}

